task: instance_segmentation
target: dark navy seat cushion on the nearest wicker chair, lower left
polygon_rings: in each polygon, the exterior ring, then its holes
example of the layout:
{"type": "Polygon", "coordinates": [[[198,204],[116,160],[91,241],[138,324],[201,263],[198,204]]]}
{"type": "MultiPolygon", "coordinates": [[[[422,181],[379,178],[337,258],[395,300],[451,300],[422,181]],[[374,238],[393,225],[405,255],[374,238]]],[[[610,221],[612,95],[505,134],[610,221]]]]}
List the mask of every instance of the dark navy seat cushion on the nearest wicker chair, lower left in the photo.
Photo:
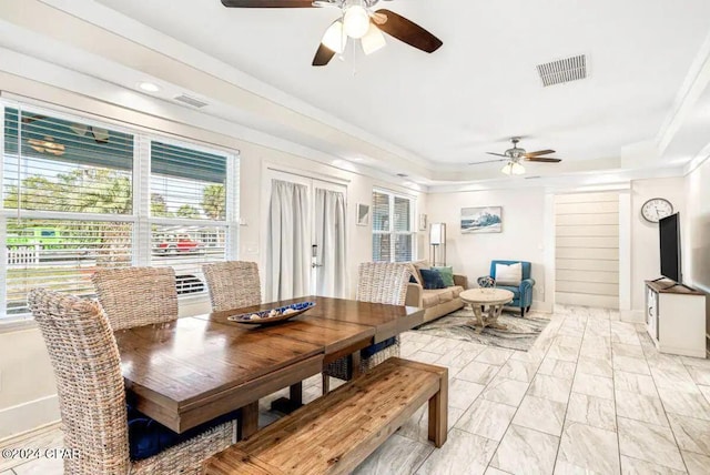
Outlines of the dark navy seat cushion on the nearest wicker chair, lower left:
{"type": "Polygon", "coordinates": [[[224,414],[220,417],[200,424],[189,431],[178,434],[139,412],[132,404],[126,404],[129,420],[129,449],[132,461],[158,455],[166,448],[185,442],[196,435],[239,416],[239,410],[224,414]]]}

